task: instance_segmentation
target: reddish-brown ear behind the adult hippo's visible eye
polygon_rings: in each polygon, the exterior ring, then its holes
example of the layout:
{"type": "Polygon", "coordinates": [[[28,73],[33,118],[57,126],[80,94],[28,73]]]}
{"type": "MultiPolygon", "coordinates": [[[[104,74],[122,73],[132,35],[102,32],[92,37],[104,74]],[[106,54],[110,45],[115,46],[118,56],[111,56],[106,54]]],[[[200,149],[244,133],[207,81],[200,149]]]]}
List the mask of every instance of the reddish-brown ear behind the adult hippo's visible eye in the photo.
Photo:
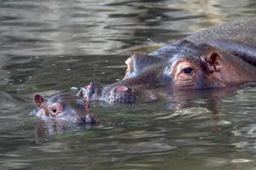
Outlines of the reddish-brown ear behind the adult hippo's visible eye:
{"type": "Polygon", "coordinates": [[[218,51],[211,51],[207,54],[205,62],[210,73],[218,72],[222,67],[222,54],[219,54],[218,51]]]}

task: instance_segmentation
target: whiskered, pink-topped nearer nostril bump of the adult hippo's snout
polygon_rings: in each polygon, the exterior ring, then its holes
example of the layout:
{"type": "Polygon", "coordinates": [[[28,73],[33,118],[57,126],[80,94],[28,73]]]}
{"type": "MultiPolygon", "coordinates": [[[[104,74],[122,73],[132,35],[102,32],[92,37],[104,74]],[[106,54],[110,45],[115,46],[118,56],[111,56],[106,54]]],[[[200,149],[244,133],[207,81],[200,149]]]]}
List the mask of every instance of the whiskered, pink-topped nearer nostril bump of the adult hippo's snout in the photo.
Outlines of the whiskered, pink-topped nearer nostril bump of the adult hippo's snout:
{"type": "Polygon", "coordinates": [[[106,96],[108,103],[133,103],[137,99],[136,93],[124,85],[113,88],[106,96]]]}

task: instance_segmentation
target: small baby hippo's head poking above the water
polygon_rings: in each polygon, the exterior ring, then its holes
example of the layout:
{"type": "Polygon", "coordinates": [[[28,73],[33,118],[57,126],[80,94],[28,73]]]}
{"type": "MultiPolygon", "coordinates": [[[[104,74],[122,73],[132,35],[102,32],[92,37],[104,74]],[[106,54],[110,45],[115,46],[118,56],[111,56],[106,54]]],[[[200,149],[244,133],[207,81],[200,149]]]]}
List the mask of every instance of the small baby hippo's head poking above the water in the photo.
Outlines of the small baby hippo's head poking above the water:
{"type": "Polygon", "coordinates": [[[73,123],[96,123],[96,116],[91,114],[87,100],[70,95],[55,94],[45,99],[35,94],[33,102],[38,106],[37,116],[64,120],[73,123]]]}

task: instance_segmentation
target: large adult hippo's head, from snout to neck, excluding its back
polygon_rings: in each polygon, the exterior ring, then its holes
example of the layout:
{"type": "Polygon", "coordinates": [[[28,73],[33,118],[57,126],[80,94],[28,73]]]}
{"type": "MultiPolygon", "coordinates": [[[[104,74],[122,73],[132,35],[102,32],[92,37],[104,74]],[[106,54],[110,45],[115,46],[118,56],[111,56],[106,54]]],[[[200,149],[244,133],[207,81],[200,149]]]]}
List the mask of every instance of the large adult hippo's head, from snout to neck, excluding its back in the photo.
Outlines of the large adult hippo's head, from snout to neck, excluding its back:
{"type": "Polygon", "coordinates": [[[151,54],[135,54],[125,61],[125,78],[107,86],[97,82],[81,88],[90,100],[131,103],[145,89],[194,90],[227,88],[256,80],[256,69],[230,52],[206,43],[180,41],[151,54]]]}

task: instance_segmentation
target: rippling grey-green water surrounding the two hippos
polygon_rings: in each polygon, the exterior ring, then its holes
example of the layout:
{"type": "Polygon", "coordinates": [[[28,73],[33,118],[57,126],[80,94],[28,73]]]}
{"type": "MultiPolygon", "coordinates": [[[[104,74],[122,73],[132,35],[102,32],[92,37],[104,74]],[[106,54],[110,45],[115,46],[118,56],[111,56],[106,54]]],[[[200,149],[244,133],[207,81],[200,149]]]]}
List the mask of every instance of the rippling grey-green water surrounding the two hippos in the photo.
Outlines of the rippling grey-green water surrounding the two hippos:
{"type": "Polygon", "coordinates": [[[255,170],[253,87],[95,102],[95,127],[55,127],[29,115],[35,93],[115,82],[129,51],[251,17],[255,7],[253,0],[0,1],[0,168],[255,170]]]}

